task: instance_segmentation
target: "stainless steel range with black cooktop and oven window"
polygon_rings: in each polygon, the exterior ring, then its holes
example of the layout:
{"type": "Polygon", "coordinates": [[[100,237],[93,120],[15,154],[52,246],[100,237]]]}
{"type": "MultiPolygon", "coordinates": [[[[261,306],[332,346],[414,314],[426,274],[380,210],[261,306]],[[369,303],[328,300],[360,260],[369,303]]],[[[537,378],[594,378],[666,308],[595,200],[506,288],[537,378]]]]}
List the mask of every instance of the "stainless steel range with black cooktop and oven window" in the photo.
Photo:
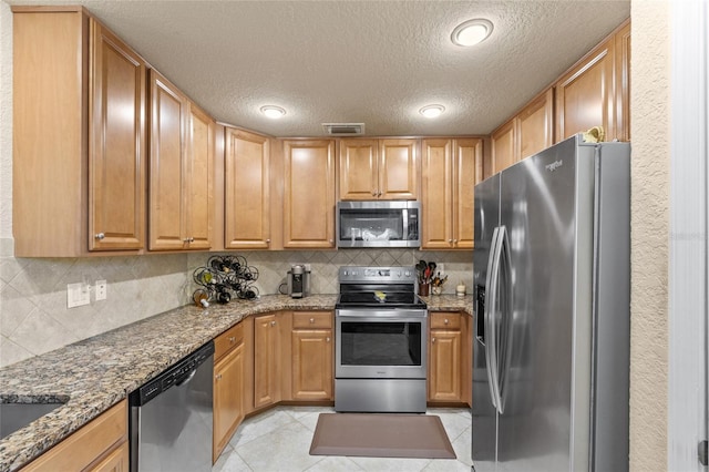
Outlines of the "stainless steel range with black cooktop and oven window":
{"type": "Polygon", "coordinates": [[[414,267],[341,267],[335,410],[425,412],[428,310],[414,267]]]}

